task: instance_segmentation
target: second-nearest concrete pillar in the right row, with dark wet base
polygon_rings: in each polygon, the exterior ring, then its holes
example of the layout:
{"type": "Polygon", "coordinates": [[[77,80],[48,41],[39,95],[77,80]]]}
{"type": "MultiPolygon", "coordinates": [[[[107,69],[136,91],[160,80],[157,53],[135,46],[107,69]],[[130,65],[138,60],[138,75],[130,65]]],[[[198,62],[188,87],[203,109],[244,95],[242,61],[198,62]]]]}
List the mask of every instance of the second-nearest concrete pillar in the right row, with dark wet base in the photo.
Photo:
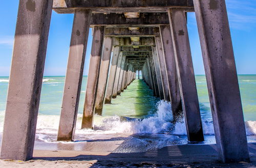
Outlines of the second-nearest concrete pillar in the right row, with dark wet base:
{"type": "Polygon", "coordinates": [[[168,14],[188,141],[204,141],[185,12],[179,9],[172,9],[168,11],[168,14]]]}

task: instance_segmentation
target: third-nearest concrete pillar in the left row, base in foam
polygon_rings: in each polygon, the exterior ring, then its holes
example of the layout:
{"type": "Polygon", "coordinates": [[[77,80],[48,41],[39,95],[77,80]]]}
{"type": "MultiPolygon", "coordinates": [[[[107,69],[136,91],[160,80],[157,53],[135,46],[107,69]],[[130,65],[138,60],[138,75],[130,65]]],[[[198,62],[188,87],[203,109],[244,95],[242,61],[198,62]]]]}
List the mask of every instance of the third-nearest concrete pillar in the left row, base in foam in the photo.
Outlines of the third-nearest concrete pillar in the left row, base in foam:
{"type": "Polygon", "coordinates": [[[93,29],[93,42],[91,59],[86,88],[86,100],[84,101],[82,127],[93,127],[94,107],[98,87],[99,69],[101,62],[102,42],[104,37],[104,26],[95,26],[93,29]]]}

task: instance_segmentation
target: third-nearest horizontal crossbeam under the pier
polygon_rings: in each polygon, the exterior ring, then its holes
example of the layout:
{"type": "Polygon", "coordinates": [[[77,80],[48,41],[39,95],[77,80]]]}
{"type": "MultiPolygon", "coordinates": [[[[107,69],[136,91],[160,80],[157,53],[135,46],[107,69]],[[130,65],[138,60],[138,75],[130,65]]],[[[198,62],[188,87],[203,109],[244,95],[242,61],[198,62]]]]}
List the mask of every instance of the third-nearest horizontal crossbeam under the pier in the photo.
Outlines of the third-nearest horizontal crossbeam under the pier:
{"type": "Polygon", "coordinates": [[[105,29],[105,36],[112,37],[152,37],[160,36],[158,27],[141,27],[139,30],[131,31],[128,28],[107,28],[105,29]]]}

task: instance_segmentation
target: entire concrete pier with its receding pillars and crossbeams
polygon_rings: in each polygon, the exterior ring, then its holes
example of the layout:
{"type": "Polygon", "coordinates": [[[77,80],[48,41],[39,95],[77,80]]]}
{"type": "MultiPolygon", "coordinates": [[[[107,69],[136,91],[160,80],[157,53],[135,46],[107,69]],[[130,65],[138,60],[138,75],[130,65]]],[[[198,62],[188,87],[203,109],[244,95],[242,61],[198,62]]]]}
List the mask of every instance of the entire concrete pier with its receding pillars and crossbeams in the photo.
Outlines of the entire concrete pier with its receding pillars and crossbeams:
{"type": "Polygon", "coordinates": [[[74,138],[90,27],[81,128],[92,128],[94,114],[101,115],[103,104],[111,103],[141,71],[154,96],[170,101],[174,116],[183,111],[188,140],[204,141],[186,20],[187,12],[195,12],[219,159],[249,160],[225,0],[20,0],[2,159],[33,156],[52,10],[74,13],[59,141],[74,138]]]}

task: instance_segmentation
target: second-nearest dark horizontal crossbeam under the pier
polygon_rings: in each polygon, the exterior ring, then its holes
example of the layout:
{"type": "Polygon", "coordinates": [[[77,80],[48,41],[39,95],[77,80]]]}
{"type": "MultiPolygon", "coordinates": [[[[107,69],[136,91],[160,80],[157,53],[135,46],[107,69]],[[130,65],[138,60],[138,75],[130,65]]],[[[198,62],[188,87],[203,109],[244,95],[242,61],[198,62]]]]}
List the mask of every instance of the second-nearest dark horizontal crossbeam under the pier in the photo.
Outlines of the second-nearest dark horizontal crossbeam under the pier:
{"type": "Polygon", "coordinates": [[[140,13],[139,18],[126,18],[123,13],[94,13],[91,19],[91,27],[159,27],[168,24],[168,13],[140,13]]]}

